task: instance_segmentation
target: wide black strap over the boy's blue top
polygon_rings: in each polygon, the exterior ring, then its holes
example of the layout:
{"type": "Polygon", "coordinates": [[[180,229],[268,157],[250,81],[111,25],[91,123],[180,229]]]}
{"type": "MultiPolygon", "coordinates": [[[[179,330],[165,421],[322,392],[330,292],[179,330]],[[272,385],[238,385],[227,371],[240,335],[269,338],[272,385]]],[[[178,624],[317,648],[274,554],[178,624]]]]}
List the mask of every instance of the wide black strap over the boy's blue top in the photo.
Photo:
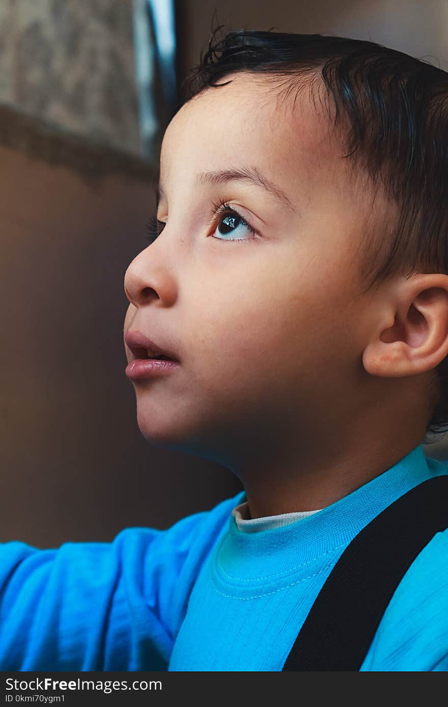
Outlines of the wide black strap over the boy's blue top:
{"type": "Polygon", "coordinates": [[[423,481],[369,522],[318,593],[282,670],[360,670],[394,591],[448,527],[448,476],[423,481]]]}

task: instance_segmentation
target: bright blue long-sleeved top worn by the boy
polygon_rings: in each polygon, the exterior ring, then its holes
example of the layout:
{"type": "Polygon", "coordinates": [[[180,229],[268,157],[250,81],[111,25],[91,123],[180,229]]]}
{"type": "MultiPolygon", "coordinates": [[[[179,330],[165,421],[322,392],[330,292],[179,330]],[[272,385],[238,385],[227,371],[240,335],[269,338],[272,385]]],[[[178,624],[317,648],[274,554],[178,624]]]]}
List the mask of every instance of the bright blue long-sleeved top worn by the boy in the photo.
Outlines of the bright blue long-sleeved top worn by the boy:
{"type": "MultiPolygon", "coordinates": [[[[1,670],[282,670],[331,568],[396,498],[448,465],[421,445],[289,525],[239,530],[242,491],[167,530],[0,545],[1,670]]],[[[399,528],[397,528],[399,532],[399,528]]],[[[398,585],[361,670],[448,669],[448,530],[398,585]]]]}

